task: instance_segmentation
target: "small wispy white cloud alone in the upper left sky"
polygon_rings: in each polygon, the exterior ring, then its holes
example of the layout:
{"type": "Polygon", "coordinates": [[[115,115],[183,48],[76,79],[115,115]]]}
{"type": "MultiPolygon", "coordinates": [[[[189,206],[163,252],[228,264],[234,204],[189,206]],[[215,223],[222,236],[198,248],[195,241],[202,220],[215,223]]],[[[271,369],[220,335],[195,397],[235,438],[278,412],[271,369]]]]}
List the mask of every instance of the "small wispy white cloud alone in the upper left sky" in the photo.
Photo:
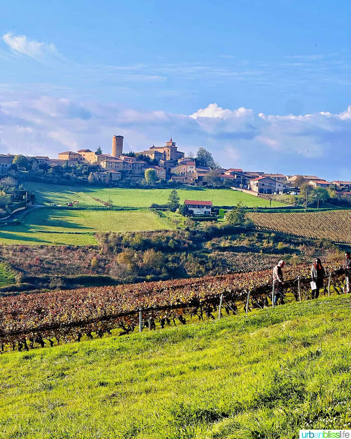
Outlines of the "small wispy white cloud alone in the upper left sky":
{"type": "Polygon", "coordinates": [[[42,60],[47,54],[57,54],[54,44],[39,43],[38,41],[29,41],[25,35],[14,35],[8,32],[2,36],[14,54],[27,55],[36,60],[42,60]]]}

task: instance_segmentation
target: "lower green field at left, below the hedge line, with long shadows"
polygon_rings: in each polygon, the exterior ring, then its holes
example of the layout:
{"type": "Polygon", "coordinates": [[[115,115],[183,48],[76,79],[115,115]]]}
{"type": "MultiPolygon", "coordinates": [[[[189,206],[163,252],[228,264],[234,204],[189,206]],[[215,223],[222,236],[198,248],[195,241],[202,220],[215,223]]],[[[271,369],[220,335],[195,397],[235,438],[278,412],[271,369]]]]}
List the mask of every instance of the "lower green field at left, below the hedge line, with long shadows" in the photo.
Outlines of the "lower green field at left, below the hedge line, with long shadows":
{"type": "Polygon", "coordinates": [[[33,210],[22,221],[23,224],[0,227],[0,244],[96,245],[95,237],[87,232],[167,228],[164,221],[148,211],[59,210],[47,207],[33,210]]]}

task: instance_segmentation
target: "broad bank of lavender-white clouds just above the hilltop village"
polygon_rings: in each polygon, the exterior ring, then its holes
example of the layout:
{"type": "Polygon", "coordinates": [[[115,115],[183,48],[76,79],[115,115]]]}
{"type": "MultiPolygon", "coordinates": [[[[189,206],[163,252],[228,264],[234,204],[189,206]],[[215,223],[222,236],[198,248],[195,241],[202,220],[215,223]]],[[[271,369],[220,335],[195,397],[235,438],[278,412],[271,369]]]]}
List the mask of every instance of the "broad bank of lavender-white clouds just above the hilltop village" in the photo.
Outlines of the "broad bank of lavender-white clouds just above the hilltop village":
{"type": "Polygon", "coordinates": [[[63,149],[101,145],[111,152],[115,133],[125,137],[125,151],[165,144],[172,133],[180,151],[203,146],[224,167],[351,180],[351,107],[265,115],[209,104],[182,115],[53,97],[0,101],[0,151],[57,157],[63,149]]]}

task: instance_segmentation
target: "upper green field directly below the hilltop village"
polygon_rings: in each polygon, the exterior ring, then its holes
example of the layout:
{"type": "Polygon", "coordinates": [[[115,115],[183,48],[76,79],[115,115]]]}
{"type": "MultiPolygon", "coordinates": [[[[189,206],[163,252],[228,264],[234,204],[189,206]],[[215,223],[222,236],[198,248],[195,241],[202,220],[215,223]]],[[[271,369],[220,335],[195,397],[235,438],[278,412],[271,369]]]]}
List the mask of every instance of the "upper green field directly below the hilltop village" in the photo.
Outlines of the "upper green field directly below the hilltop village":
{"type": "MultiPolygon", "coordinates": [[[[27,189],[32,189],[36,194],[36,203],[49,204],[57,203],[65,205],[75,200],[79,205],[101,205],[93,198],[104,202],[113,201],[115,206],[128,207],[149,207],[152,203],[165,204],[168,202],[168,195],[171,189],[96,189],[93,187],[59,186],[54,184],[27,183],[27,189]]],[[[245,192],[233,191],[232,189],[177,189],[180,202],[188,200],[213,201],[213,205],[233,206],[241,202],[247,207],[269,206],[269,201],[245,192]],[[213,197],[213,198],[212,198],[213,197]]],[[[272,201],[272,207],[283,206],[282,203],[272,201]]]]}

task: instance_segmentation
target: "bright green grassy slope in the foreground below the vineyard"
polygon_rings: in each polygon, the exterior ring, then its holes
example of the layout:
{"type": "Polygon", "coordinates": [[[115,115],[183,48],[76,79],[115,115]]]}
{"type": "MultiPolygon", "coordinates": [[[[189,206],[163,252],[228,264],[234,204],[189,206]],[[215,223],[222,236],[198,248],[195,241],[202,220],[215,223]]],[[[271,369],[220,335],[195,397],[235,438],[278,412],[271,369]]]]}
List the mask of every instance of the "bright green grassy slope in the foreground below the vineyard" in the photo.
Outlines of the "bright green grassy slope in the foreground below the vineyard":
{"type": "Polygon", "coordinates": [[[4,438],[294,438],[350,428],[350,296],[0,356],[4,438]]]}

